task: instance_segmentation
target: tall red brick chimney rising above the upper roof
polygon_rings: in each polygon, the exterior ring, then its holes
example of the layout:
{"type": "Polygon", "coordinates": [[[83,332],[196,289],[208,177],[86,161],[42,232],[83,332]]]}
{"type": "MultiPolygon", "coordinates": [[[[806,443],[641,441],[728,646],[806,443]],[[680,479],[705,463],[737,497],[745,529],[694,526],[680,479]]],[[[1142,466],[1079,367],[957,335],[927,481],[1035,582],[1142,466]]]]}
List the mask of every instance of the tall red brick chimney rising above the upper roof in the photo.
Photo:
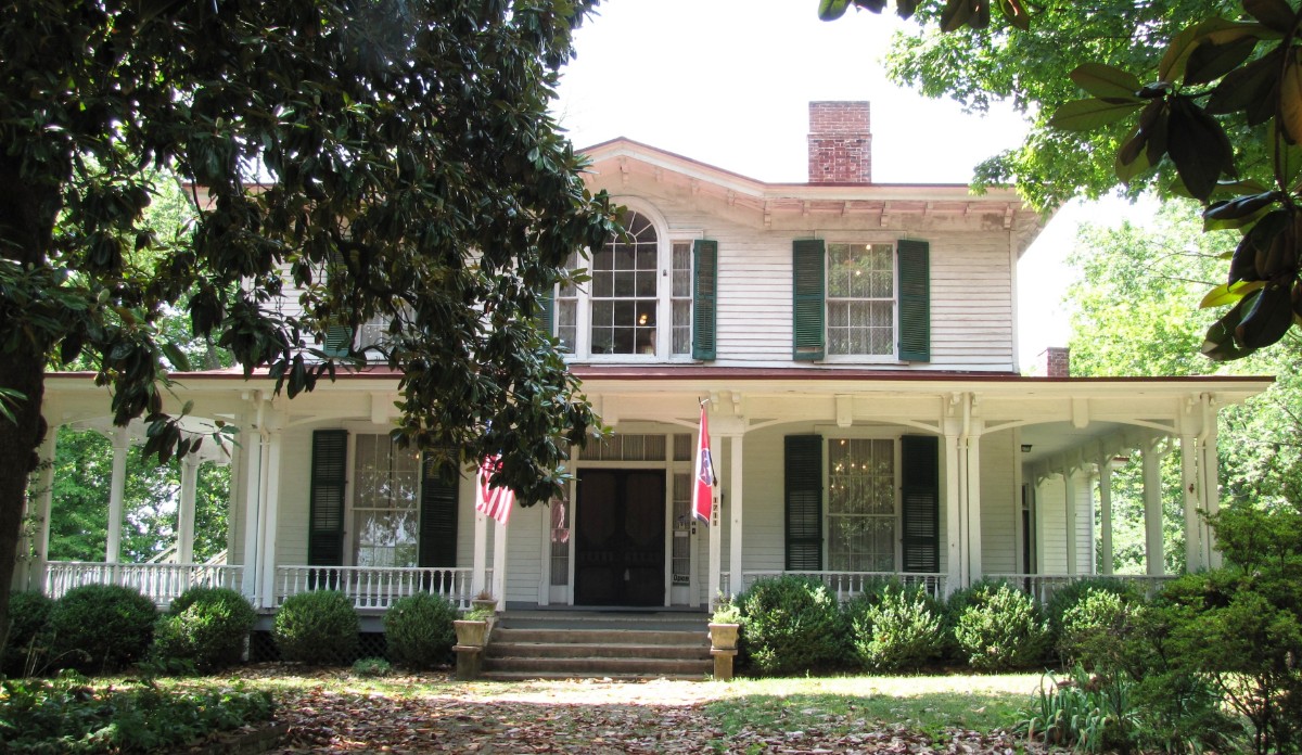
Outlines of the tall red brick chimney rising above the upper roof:
{"type": "Polygon", "coordinates": [[[810,103],[810,184],[871,182],[868,103],[810,103]]]}

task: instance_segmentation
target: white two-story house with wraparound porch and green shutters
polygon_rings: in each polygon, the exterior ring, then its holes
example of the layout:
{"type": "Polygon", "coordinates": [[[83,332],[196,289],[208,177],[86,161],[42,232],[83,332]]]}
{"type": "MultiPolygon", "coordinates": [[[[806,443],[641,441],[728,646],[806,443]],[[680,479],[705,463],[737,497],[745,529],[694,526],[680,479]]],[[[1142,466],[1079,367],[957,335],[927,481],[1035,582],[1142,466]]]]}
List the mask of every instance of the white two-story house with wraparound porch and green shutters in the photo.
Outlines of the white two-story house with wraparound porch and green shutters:
{"type": "MultiPolygon", "coordinates": [[[[1019,375],[1017,320],[1034,312],[1016,292],[1035,281],[1017,263],[1042,217],[1009,190],[875,184],[871,139],[867,103],[810,103],[803,184],[628,139],[586,150],[587,181],[628,208],[629,236],[575,255],[591,280],[551,299],[548,327],[613,428],[573,454],[564,499],[508,526],[478,515],[471,473],[427,478],[391,444],[397,376],[383,370],[292,401],[237,371],[178,375],[195,417],[240,428],[225,565],[113,565],[113,543],[108,565],[52,564],[38,532],[27,579],[56,594],[118,579],[165,599],[204,575],[267,609],[322,584],[361,609],[480,588],[509,607],[690,608],[784,571],[842,596],[883,574],[936,592],[983,577],[1040,588],[1107,571],[1118,453],[1152,471],[1157,579],[1157,460],[1174,446],[1187,566],[1216,564],[1198,512],[1217,508],[1217,411],[1268,379],[1019,375]],[[690,514],[702,402],[719,480],[708,525],[690,514]]],[[[52,427],[102,422],[107,397],[86,375],[47,387],[52,427]]],[[[46,521],[57,506],[35,504],[46,521]]]]}

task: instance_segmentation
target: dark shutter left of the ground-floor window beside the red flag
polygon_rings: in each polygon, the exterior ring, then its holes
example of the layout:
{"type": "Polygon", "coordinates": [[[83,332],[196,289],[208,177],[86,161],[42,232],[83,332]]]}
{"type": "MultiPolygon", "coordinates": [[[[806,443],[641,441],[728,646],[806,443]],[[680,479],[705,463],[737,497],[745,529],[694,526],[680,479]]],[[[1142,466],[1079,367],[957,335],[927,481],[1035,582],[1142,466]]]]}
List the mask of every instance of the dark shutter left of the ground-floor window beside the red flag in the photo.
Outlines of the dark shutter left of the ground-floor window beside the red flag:
{"type": "Polygon", "coordinates": [[[788,571],[823,569],[823,436],[785,439],[788,571]]]}

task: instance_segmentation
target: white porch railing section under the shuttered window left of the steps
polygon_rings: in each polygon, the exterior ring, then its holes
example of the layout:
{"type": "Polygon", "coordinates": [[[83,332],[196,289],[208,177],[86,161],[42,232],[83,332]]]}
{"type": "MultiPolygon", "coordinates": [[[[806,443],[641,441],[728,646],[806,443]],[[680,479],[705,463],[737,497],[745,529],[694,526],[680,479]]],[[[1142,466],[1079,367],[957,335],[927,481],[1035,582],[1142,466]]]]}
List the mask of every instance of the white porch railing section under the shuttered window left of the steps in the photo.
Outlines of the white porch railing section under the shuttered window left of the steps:
{"type": "MultiPolygon", "coordinates": [[[[277,566],[276,605],[290,595],[311,590],[339,590],[354,608],[387,609],[398,597],[418,592],[441,595],[470,608],[473,569],[376,566],[277,566]]],[[[492,570],[486,583],[492,584],[492,570]]]]}

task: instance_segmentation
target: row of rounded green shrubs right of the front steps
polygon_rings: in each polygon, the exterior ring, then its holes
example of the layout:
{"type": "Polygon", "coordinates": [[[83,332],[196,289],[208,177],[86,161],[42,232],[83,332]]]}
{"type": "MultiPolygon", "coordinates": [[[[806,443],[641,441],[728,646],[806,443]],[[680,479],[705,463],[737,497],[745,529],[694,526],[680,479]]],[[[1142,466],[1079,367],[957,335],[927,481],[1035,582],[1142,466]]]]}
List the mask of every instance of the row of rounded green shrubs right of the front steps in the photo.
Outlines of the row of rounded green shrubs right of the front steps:
{"type": "Polygon", "coordinates": [[[883,579],[842,607],[820,581],[784,575],[737,597],[740,650],[743,666],[769,676],[846,666],[876,673],[945,664],[979,672],[1044,668],[1101,652],[1108,631],[1125,621],[1124,607],[1138,601],[1116,583],[1082,581],[1047,607],[1003,582],[973,584],[941,603],[883,579]]]}

